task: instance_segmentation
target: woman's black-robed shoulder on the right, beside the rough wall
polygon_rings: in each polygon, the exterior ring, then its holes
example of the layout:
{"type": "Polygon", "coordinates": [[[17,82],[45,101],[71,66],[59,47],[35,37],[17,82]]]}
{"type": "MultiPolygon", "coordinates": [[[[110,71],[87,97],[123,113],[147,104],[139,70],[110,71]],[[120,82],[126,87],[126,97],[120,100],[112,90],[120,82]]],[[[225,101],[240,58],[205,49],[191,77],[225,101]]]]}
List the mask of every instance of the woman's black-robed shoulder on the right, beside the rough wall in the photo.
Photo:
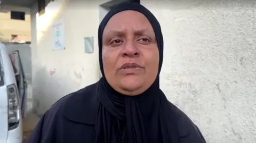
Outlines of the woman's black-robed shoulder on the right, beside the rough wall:
{"type": "Polygon", "coordinates": [[[169,113],[169,116],[174,117],[173,119],[175,120],[179,136],[183,137],[183,140],[186,139],[188,141],[193,140],[196,142],[206,142],[197,125],[191,121],[184,112],[170,102],[167,105],[167,108],[169,108],[169,111],[171,112],[171,114],[169,113]]]}

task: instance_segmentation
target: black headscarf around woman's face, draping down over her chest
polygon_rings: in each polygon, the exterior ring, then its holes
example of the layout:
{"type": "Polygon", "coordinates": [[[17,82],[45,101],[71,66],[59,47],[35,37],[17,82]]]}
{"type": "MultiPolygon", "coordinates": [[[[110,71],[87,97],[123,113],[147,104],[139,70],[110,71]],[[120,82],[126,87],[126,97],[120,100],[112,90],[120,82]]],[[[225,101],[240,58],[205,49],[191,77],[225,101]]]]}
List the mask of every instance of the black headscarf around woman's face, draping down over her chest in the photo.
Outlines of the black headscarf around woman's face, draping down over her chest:
{"type": "Polygon", "coordinates": [[[170,130],[174,128],[167,129],[162,108],[163,105],[168,104],[165,95],[159,89],[159,73],[163,63],[163,36],[155,16],[140,4],[120,4],[111,9],[100,23],[98,42],[100,70],[103,77],[99,81],[97,94],[100,103],[95,124],[95,141],[97,143],[177,142],[174,141],[176,139],[170,138],[170,130]],[[157,78],[148,90],[138,96],[125,96],[115,91],[107,82],[102,65],[103,30],[113,15],[125,10],[138,11],[146,16],[154,29],[159,50],[157,78]]]}

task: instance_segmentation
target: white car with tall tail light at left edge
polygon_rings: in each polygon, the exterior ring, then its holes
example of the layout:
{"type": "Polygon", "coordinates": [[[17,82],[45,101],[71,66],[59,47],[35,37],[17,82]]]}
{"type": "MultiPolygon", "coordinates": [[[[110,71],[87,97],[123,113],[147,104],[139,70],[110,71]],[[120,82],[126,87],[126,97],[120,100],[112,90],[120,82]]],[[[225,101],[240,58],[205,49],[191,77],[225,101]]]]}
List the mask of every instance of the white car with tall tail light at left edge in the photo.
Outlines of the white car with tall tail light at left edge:
{"type": "Polygon", "coordinates": [[[22,138],[21,104],[14,66],[0,43],[0,142],[21,143],[22,138]]]}

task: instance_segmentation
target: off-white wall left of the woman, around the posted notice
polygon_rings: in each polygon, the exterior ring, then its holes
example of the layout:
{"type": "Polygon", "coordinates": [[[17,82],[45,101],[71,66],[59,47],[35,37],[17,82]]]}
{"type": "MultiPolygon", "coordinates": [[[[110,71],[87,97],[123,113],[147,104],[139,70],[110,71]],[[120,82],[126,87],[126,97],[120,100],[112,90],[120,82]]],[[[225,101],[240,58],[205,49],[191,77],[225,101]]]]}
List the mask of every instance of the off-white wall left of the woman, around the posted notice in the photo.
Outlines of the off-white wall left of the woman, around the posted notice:
{"type": "MultiPolygon", "coordinates": [[[[99,4],[59,0],[47,5],[45,14],[31,15],[34,36],[36,32],[31,50],[32,83],[34,110],[38,114],[43,114],[62,96],[98,81],[99,4]],[[65,22],[66,49],[52,51],[52,26],[58,20],[65,22]],[[84,37],[91,36],[95,39],[94,53],[85,54],[84,37]]],[[[36,5],[32,10],[36,11],[36,5]]]]}

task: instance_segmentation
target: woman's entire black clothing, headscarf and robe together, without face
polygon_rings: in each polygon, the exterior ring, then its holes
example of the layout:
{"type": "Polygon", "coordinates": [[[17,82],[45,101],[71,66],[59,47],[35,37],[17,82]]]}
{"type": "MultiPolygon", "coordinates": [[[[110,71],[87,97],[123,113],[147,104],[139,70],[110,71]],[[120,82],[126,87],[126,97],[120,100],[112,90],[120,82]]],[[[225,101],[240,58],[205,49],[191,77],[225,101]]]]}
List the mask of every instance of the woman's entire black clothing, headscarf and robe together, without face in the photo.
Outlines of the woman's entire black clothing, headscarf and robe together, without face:
{"type": "Polygon", "coordinates": [[[163,37],[155,16],[139,4],[116,6],[102,20],[99,31],[99,61],[103,77],[91,86],[67,95],[42,117],[29,143],[204,143],[196,125],[171,104],[159,89],[163,62],[163,37]],[[134,10],[151,23],[159,50],[158,76],[148,90],[138,96],[119,94],[104,77],[102,33],[114,14],[134,10]]]}

